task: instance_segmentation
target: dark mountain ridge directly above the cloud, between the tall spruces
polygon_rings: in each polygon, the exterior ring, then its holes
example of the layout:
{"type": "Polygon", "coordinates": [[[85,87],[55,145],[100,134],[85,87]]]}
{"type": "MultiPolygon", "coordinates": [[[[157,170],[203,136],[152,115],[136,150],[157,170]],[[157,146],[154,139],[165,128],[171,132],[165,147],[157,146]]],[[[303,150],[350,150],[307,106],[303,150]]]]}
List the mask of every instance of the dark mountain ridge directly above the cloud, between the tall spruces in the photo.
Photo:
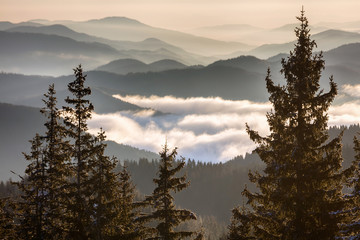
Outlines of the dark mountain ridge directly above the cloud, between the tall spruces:
{"type": "Polygon", "coordinates": [[[92,71],[89,82],[109,89],[121,89],[128,94],[173,95],[177,97],[213,97],[266,101],[264,74],[248,72],[228,66],[209,66],[200,69],[168,70],[164,72],[135,73],[125,76],[92,71]],[[97,83],[99,84],[99,83],[97,83]]]}

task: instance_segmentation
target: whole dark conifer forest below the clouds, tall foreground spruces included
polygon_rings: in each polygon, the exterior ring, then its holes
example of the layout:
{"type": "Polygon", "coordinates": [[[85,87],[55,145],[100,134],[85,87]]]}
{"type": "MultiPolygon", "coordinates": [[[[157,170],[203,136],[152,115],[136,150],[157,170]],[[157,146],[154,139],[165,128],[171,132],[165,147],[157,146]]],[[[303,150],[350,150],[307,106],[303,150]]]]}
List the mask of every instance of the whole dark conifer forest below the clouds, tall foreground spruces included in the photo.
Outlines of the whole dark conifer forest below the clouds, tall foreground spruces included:
{"type": "Polygon", "coordinates": [[[265,79],[268,136],[226,163],[177,156],[107,156],[106,133],[88,133],[94,106],[81,65],[58,108],[43,97],[46,131],[29,141],[20,181],[0,183],[1,239],[359,239],[359,125],[328,127],[337,95],[320,89],[325,67],[301,12],[297,43],[282,60],[286,85],[265,79]],[[354,137],[355,136],[355,137],[354,137]]]}

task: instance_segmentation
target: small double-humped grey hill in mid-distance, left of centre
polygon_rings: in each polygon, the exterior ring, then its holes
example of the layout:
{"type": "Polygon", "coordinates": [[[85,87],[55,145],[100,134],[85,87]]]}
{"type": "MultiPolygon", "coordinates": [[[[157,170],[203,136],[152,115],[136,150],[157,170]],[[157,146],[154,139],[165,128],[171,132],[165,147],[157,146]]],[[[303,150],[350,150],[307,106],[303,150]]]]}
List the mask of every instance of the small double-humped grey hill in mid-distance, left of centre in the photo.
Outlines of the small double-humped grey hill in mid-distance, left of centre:
{"type": "Polygon", "coordinates": [[[135,59],[119,59],[100,66],[97,68],[97,70],[116,74],[128,74],[137,72],[159,72],[170,69],[181,69],[185,67],[187,66],[170,59],[156,61],[151,64],[145,64],[135,59]]]}

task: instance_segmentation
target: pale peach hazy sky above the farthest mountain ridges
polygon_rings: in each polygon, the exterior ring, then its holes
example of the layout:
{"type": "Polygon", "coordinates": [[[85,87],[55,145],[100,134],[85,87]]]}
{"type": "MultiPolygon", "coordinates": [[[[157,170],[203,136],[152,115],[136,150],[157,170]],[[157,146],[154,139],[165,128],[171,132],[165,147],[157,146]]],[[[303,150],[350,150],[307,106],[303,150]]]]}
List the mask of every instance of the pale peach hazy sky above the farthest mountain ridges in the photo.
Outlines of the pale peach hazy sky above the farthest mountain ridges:
{"type": "Polygon", "coordinates": [[[311,23],[360,20],[359,0],[0,0],[0,21],[125,16],[180,30],[231,23],[276,27],[295,22],[302,5],[311,23]]]}

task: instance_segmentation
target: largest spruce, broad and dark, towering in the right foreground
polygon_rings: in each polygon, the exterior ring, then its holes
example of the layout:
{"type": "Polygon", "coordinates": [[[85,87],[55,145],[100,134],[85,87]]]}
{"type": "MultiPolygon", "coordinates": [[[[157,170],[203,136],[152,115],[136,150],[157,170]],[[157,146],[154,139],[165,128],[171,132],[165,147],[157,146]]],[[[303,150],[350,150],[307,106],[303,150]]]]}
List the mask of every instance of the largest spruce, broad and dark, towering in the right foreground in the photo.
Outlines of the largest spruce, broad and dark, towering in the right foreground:
{"type": "MultiPolygon", "coordinates": [[[[275,85],[270,70],[266,85],[273,110],[267,114],[270,135],[260,136],[247,127],[258,144],[255,152],[266,164],[263,173],[250,173],[259,189],[245,189],[252,212],[236,212],[238,227],[256,239],[335,239],[340,236],[340,214],[345,206],[342,188],[351,171],[342,171],[341,136],[327,142],[328,110],[337,94],[320,90],[322,54],[314,54],[304,11],[295,29],[297,43],[282,60],[287,83],[275,85]]],[[[241,236],[244,237],[244,236],[241,236]]],[[[241,239],[239,237],[239,239],[241,239]]]]}

